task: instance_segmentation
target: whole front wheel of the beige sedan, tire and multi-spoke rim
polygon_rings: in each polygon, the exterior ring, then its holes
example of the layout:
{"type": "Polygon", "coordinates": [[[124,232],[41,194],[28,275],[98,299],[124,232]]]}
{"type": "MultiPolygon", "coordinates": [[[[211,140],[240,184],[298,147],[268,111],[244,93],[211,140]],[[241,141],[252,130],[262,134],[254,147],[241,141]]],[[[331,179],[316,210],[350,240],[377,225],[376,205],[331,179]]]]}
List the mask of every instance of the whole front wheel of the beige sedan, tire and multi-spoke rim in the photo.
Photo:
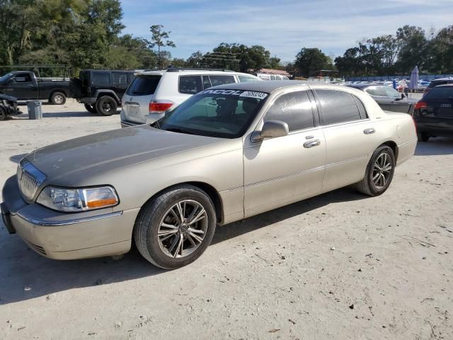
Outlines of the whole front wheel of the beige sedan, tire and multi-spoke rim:
{"type": "Polygon", "coordinates": [[[155,266],[180,268],[207,249],[215,227],[210,197],[195,186],[178,186],[144,206],[134,226],[134,241],[140,254],[155,266]]]}

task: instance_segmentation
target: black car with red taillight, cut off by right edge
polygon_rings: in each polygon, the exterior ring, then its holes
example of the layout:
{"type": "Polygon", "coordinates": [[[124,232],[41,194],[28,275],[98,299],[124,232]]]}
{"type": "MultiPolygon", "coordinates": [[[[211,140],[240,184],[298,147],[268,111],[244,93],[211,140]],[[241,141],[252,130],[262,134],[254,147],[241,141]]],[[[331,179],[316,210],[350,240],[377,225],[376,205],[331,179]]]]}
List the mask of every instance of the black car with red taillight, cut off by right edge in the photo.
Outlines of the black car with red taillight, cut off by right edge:
{"type": "Polygon", "coordinates": [[[436,86],[415,105],[418,140],[453,137],[453,84],[436,86]]]}

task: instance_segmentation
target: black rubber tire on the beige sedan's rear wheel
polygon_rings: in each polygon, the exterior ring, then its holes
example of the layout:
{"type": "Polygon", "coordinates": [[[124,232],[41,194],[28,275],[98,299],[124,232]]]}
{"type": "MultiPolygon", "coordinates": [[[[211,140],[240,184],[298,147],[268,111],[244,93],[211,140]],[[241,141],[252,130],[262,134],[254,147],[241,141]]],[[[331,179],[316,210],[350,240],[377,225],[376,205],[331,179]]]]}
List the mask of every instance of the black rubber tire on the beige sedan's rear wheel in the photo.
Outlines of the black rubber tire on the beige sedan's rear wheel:
{"type": "MultiPolygon", "coordinates": [[[[387,145],[382,145],[381,147],[378,147],[374,151],[371,159],[369,160],[364,178],[362,179],[362,181],[356,183],[355,185],[357,190],[360,191],[361,193],[365,193],[365,195],[368,196],[382,195],[382,193],[385,193],[385,191],[389,188],[391,180],[394,178],[395,165],[396,161],[394,150],[392,150],[391,147],[387,145]],[[387,157],[386,159],[388,159],[389,164],[391,164],[391,169],[389,171],[379,171],[379,169],[375,168],[378,159],[379,161],[381,159],[384,159],[385,156],[382,156],[384,154],[386,154],[387,157]],[[378,178],[373,181],[373,177],[377,176],[377,174],[379,174],[378,178]],[[375,181],[382,179],[382,176],[384,176],[385,179],[384,185],[383,186],[377,185],[375,181]]],[[[384,166],[382,166],[382,168],[384,169],[384,166]]]]}

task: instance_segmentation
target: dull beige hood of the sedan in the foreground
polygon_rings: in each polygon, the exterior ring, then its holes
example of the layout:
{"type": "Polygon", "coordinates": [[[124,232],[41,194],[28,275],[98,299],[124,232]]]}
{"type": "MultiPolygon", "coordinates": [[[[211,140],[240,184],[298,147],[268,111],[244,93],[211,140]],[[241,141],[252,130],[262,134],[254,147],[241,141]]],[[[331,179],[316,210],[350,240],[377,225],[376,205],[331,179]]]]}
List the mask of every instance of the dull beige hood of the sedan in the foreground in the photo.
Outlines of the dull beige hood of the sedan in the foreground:
{"type": "Polygon", "coordinates": [[[35,150],[25,158],[47,176],[47,183],[76,186],[107,171],[222,140],[140,125],[59,142],[35,150]]]}

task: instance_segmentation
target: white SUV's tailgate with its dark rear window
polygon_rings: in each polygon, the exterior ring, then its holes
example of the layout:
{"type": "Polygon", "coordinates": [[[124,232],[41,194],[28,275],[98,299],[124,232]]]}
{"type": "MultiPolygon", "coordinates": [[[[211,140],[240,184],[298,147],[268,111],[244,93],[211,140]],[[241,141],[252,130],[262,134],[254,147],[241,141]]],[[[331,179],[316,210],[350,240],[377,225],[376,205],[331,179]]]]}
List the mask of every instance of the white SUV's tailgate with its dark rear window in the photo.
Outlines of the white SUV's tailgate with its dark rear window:
{"type": "Polygon", "coordinates": [[[122,96],[122,110],[125,119],[133,123],[144,124],[149,114],[149,103],[161,80],[160,74],[139,75],[127,88],[122,96]]]}

